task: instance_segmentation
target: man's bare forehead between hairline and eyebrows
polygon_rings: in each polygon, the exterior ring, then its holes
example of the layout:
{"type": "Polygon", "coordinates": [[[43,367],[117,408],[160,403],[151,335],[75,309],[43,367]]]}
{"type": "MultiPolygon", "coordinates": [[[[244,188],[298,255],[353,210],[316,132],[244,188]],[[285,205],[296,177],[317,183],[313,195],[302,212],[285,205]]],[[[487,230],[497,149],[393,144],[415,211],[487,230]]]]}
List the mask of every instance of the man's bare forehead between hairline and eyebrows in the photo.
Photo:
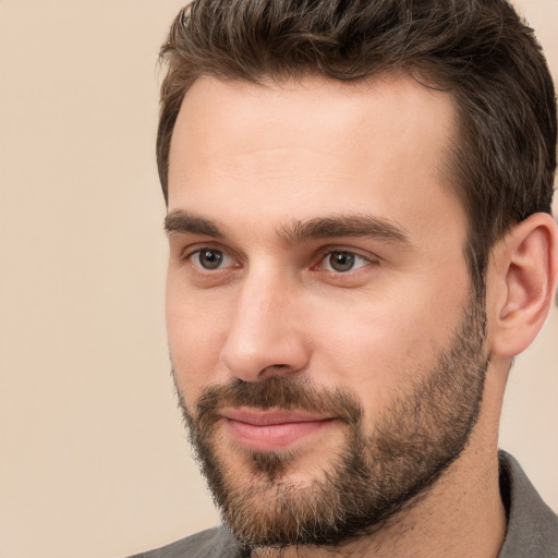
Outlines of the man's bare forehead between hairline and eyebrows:
{"type": "Polygon", "coordinates": [[[448,94],[404,75],[265,85],[202,77],[171,142],[169,211],[256,211],[263,222],[372,211],[405,223],[429,219],[421,211],[460,213],[445,172],[454,122],[448,94]]]}

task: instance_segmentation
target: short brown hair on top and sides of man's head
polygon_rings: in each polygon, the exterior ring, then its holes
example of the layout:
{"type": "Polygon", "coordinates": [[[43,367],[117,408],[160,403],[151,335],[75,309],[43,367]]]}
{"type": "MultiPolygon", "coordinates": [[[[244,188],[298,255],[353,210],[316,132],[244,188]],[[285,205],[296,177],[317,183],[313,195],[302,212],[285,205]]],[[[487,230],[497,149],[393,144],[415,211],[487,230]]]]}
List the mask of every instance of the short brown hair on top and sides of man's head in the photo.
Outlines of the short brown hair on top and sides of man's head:
{"type": "Polygon", "coordinates": [[[554,85],[533,29],[506,0],[194,0],[174,20],[161,60],[157,163],[166,199],[174,122],[201,75],[257,84],[399,70],[456,100],[452,187],[469,218],[476,287],[494,243],[529,215],[550,213],[554,85]]]}

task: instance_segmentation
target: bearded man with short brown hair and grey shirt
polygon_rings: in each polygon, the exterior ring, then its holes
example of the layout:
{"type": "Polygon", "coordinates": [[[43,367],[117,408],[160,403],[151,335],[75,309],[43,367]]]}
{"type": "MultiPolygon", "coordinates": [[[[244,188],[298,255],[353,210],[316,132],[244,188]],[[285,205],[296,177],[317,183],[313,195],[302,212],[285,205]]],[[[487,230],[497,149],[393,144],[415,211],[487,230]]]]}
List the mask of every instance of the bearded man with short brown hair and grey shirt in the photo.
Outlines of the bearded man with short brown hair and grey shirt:
{"type": "Polygon", "coordinates": [[[223,526],[148,557],[558,556],[497,450],[558,276],[505,0],[198,0],[162,57],[177,390],[223,526]]]}

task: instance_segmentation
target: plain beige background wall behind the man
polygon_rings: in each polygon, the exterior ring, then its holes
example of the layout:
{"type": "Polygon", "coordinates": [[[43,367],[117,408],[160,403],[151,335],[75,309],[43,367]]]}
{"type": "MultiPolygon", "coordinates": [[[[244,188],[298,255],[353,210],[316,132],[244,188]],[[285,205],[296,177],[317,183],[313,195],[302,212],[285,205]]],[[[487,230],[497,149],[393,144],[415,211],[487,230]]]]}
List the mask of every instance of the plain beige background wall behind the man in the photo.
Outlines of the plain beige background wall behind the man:
{"type": "MultiPolygon", "coordinates": [[[[217,521],[163,323],[156,58],[175,0],[0,0],[0,558],[120,557],[217,521]]],[[[558,1],[520,2],[558,75],[558,1]]],[[[505,448],[558,509],[558,313],[505,448]]]]}

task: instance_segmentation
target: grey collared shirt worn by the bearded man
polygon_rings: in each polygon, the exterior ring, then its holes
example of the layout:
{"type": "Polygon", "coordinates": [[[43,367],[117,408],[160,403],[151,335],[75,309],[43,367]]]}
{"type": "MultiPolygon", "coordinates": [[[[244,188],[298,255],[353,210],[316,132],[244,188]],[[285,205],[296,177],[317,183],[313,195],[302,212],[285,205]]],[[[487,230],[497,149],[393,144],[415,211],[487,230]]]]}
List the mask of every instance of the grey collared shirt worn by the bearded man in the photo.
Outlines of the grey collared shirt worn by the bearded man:
{"type": "MultiPolygon", "coordinates": [[[[558,558],[558,517],[538,496],[520,464],[499,453],[500,492],[508,533],[498,558],[558,558]]],[[[131,558],[245,558],[223,527],[214,527],[131,558]]]]}

